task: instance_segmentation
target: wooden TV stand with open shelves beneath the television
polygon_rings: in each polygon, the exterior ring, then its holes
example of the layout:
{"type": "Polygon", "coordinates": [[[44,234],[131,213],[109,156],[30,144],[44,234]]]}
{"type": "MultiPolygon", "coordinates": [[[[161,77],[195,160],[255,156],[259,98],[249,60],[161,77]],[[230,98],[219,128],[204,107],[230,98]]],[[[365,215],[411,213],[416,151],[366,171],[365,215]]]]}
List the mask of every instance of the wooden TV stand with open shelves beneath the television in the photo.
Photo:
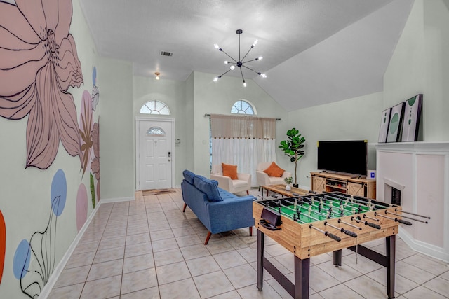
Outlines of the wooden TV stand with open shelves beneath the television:
{"type": "Polygon", "coordinates": [[[310,188],[316,193],[338,191],[349,195],[368,197],[373,200],[376,198],[376,180],[362,179],[361,176],[311,172],[310,188]]]}

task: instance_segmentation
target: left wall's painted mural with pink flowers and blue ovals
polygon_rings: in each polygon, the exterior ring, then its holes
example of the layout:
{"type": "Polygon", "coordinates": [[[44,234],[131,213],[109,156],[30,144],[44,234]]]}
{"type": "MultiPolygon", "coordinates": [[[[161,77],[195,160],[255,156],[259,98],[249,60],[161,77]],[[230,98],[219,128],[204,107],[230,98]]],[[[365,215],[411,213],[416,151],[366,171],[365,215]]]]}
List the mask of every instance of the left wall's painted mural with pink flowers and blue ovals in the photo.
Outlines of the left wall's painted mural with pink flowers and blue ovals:
{"type": "MultiPolygon", "coordinates": [[[[88,27],[74,2],[84,37],[88,27]]],[[[80,90],[86,82],[79,53],[92,65],[97,56],[93,43],[77,50],[73,11],[72,0],[0,0],[0,132],[8,123],[14,137],[0,158],[22,159],[12,171],[0,169],[10,195],[0,195],[0,298],[38,297],[100,200],[97,68],[92,91],[80,90]],[[47,209],[42,189],[50,181],[47,209]]]]}

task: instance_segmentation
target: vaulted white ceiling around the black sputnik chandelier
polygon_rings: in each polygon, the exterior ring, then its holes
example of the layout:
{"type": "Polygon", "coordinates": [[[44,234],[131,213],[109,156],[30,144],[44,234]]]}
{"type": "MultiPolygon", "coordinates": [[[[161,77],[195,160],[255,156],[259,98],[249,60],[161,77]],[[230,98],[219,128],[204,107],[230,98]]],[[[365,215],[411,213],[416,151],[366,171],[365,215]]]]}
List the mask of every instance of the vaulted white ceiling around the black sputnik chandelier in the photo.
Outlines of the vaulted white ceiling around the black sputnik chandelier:
{"type": "MultiPolygon", "coordinates": [[[[216,76],[255,39],[243,76],[288,110],[381,91],[413,0],[80,0],[100,55],[134,74],[185,81],[216,76]],[[171,56],[161,52],[173,53],[171,56]]],[[[241,78],[239,68],[225,76],[241,78]]],[[[212,78],[211,78],[212,79],[212,78]]],[[[217,84],[219,84],[217,82],[217,84]]]]}

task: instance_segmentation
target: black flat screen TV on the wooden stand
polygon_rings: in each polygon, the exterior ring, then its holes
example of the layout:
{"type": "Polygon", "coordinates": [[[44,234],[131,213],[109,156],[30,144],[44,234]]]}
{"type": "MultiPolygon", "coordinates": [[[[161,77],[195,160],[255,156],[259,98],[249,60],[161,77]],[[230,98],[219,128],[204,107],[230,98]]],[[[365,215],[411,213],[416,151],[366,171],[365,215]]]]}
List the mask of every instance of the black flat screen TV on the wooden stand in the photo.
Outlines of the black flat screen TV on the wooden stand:
{"type": "Polygon", "coordinates": [[[366,176],[368,141],[319,141],[318,169],[366,176]]]}

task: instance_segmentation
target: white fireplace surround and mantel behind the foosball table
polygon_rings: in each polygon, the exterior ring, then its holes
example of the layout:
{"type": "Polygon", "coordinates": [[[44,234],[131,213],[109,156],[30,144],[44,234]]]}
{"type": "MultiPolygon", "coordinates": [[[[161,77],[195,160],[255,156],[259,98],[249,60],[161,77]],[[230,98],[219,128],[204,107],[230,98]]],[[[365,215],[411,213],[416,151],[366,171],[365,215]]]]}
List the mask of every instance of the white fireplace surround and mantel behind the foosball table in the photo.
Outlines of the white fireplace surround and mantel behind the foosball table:
{"type": "MultiPolygon", "coordinates": [[[[401,225],[413,249],[449,262],[449,142],[376,144],[377,200],[401,189],[403,211],[430,216],[428,224],[401,225]]],[[[420,218],[422,219],[422,218],[420,218]]]]}

